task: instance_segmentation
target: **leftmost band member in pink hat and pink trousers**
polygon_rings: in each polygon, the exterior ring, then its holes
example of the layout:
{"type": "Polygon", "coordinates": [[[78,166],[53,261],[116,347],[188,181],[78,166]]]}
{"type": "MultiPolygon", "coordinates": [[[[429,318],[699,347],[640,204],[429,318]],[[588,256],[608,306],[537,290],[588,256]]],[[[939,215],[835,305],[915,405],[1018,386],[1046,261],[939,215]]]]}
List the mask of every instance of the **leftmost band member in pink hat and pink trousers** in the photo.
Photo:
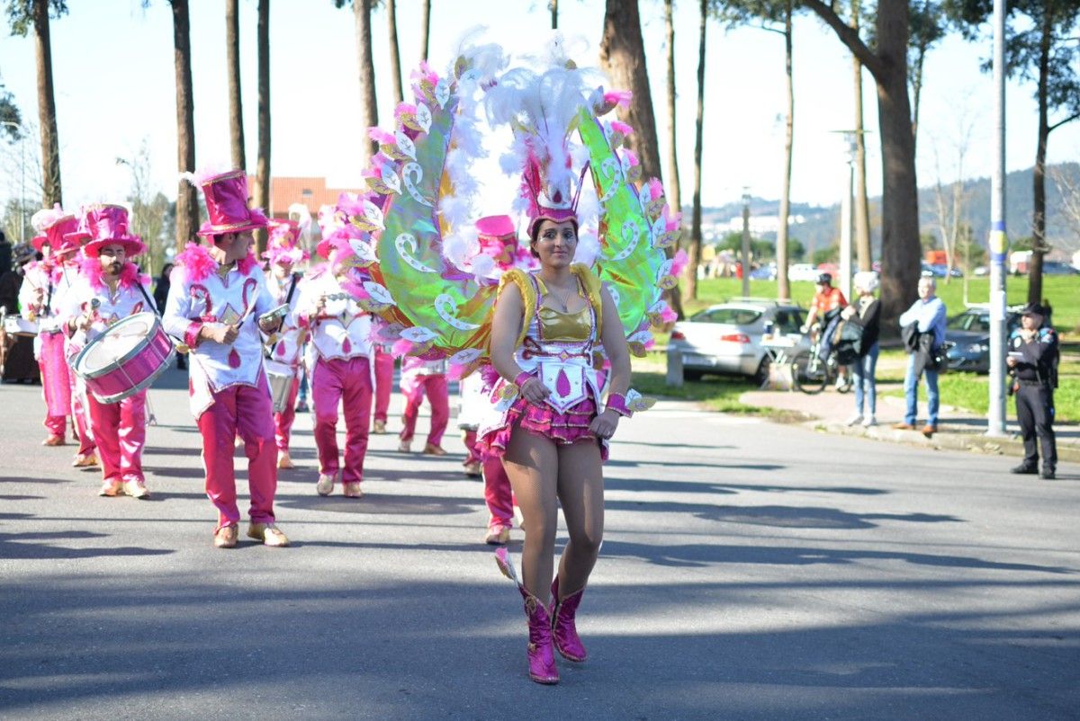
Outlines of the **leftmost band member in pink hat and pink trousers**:
{"type": "Polygon", "coordinates": [[[70,283],[64,258],[78,249],[78,245],[68,243],[64,236],[75,231],[79,223],[59,206],[33,214],[31,223],[41,233],[32,240],[33,247],[44,259],[26,266],[18,304],[23,317],[38,323],[33,350],[41,369],[44,426],[49,432],[42,445],[63,446],[67,419],[71,414],[71,383],[56,310],[60,295],[70,283]]]}

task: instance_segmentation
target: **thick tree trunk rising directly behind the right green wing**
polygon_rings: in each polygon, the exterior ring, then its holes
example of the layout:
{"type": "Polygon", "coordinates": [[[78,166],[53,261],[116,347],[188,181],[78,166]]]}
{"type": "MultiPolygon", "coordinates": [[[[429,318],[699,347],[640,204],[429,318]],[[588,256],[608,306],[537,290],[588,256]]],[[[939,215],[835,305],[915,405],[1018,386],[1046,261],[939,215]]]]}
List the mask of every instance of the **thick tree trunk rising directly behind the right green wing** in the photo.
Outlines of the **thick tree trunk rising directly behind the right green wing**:
{"type": "MultiPolygon", "coordinates": [[[[613,87],[633,93],[630,108],[619,110],[620,119],[634,128],[630,144],[642,165],[643,178],[663,181],[660,166],[660,147],[657,142],[657,119],[652,113],[652,93],[645,64],[645,42],[642,39],[642,18],[637,0],[606,0],[604,37],[600,40],[600,67],[611,79],[613,87]]],[[[667,248],[669,257],[674,247],[667,248]]],[[[683,300],[678,286],[667,294],[672,310],[683,317],[683,300]]]]}

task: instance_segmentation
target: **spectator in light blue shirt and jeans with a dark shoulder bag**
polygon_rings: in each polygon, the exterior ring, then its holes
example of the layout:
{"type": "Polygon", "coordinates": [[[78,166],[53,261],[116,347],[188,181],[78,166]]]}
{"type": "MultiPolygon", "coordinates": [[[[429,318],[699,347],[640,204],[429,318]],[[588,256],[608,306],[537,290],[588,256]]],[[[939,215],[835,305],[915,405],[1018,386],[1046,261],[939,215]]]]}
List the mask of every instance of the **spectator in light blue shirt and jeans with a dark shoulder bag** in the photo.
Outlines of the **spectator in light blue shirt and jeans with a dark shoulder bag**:
{"type": "Polygon", "coordinates": [[[929,411],[927,424],[922,426],[921,433],[928,438],[937,433],[940,406],[937,369],[934,367],[933,356],[945,342],[945,303],[934,295],[936,289],[937,284],[932,277],[919,278],[919,299],[900,316],[900,326],[905,329],[905,337],[914,332],[918,332],[919,337],[917,346],[909,345],[913,352],[907,358],[907,372],[904,375],[907,411],[904,421],[892,426],[902,431],[915,430],[915,421],[918,418],[919,377],[926,373],[929,411]]]}

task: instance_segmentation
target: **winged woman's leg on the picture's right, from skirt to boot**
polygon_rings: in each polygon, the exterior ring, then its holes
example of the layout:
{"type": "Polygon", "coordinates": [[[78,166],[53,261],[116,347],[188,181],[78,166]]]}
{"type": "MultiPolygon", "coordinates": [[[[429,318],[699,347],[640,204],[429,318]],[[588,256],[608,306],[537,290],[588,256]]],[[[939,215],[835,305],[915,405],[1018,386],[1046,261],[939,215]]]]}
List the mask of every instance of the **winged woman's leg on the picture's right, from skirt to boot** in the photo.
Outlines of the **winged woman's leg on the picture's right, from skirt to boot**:
{"type": "Polygon", "coordinates": [[[570,536],[558,563],[558,595],[566,598],[584,588],[604,540],[604,473],[595,443],[558,447],[558,500],[570,536]]]}

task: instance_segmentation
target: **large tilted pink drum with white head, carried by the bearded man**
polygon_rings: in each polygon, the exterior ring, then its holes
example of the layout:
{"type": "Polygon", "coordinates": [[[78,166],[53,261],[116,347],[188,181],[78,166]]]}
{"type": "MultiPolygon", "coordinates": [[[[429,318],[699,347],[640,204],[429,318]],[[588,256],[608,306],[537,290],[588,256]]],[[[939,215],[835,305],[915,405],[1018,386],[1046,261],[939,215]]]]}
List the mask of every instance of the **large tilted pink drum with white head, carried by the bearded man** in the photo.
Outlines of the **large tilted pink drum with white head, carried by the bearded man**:
{"type": "Polygon", "coordinates": [[[153,313],[136,313],[86,344],[71,368],[102,403],[147,389],[173,359],[173,341],[153,313]]]}

